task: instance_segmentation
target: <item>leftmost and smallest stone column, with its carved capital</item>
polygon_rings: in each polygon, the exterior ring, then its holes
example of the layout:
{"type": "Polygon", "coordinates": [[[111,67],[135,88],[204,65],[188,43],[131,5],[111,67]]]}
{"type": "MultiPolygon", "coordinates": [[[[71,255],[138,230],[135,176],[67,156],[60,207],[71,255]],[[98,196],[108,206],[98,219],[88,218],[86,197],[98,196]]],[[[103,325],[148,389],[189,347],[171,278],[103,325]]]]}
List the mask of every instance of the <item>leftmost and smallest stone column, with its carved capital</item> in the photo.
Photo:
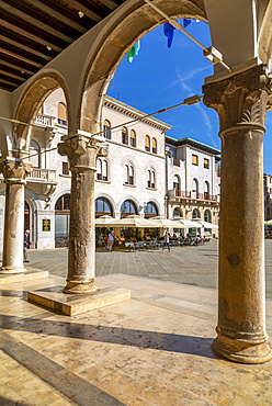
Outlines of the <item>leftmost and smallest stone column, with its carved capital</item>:
{"type": "Polygon", "coordinates": [[[23,273],[24,185],[31,163],[16,158],[0,162],[5,183],[3,253],[0,273],[23,273]]]}

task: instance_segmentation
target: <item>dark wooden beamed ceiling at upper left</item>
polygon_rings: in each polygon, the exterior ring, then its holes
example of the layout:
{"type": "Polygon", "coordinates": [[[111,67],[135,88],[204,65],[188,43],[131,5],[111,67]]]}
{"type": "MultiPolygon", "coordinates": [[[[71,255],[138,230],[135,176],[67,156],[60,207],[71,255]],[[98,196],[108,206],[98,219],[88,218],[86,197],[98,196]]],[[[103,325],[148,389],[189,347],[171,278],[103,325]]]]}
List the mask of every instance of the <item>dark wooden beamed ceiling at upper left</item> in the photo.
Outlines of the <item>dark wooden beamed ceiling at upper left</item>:
{"type": "Polygon", "coordinates": [[[2,0],[0,89],[13,91],[125,0],[2,0]]]}

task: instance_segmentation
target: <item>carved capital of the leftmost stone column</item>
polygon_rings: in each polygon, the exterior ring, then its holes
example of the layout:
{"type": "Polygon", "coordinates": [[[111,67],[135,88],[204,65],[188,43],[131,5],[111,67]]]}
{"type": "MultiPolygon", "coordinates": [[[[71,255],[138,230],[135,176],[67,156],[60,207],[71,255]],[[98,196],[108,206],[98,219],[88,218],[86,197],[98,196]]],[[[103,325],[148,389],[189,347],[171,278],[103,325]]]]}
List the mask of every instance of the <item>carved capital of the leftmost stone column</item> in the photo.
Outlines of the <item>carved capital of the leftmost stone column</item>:
{"type": "Polygon", "coordinates": [[[4,183],[26,183],[25,178],[31,173],[32,163],[18,158],[0,160],[0,171],[3,173],[4,183]]]}

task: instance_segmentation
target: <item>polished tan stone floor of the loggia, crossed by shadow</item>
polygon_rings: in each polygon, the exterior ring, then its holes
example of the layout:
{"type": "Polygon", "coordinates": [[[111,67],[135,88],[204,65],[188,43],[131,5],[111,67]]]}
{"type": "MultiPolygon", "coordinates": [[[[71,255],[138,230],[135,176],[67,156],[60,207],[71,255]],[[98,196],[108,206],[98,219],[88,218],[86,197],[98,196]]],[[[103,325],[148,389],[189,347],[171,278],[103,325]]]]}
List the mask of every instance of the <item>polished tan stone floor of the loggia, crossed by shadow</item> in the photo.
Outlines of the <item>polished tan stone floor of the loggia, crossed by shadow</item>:
{"type": "MultiPolygon", "coordinates": [[[[0,405],[272,405],[272,363],[216,358],[216,290],[138,277],[98,278],[132,300],[77,316],[26,301],[65,284],[5,284],[0,296],[0,405]]],[[[272,302],[267,302],[272,336],[272,302]]]]}

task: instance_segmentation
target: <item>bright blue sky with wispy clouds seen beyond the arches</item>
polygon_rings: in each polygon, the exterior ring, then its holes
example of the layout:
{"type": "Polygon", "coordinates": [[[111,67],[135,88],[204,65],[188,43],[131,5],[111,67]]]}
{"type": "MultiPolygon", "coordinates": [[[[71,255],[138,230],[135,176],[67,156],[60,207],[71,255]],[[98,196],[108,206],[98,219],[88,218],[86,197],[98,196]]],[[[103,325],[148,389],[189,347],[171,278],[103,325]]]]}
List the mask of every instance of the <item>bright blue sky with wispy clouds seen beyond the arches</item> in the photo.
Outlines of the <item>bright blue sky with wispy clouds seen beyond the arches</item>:
{"type": "MultiPolygon", "coordinates": [[[[211,45],[208,25],[191,23],[186,31],[203,45],[211,45]]],[[[204,78],[213,75],[213,65],[203,57],[203,50],[180,31],[174,32],[172,47],[159,26],[140,40],[139,55],[131,64],[126,57],[115,71],[107,94],[145,113],[178,104],[183,99],[202,94],[204,78]]],[[[220,149],[218,115],[203,102],[180,106],[156,115],[173,126],[168,135],[190,137],[220,149]]],[[[264,134],[264,172],[272,174],[272,112],[267,114],[264,134]]]]}

